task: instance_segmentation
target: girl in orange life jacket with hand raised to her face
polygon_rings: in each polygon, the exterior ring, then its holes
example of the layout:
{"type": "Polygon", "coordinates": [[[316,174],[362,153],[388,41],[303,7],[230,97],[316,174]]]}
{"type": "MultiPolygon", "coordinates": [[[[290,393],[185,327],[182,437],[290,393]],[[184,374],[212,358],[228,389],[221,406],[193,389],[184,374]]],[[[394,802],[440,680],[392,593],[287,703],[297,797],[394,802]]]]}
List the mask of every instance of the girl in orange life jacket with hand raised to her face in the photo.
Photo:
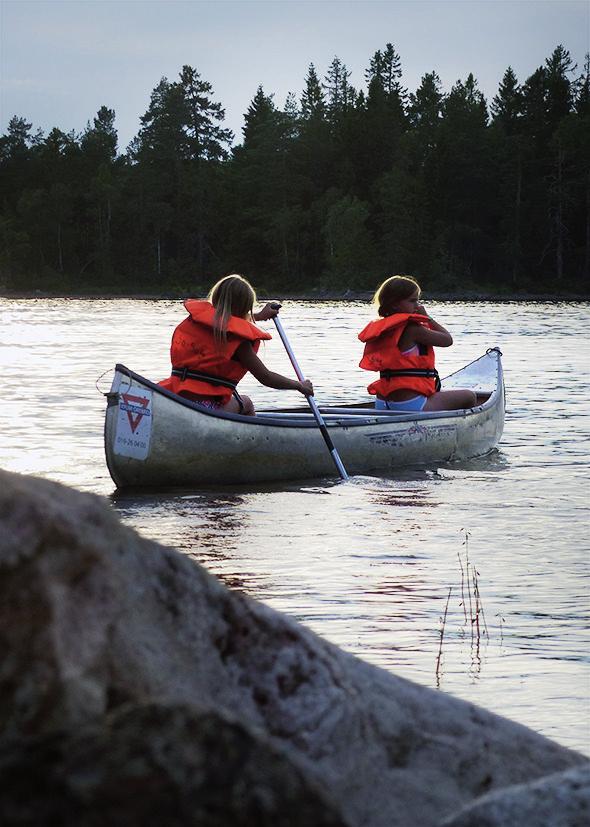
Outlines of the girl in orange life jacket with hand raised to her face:
{"type": "Polygon", "coordinates": [[[427,314],[418,282],[392,276],[378,288],[374,302],[381,318],[369,322],[359,339],[365,342],[360,367],[379,372],[367,389],[377,397],[375,407],[398,412],[474,407],[472,390],[439,390],[434,348],[449,347],[453,338],[427,314]]]}

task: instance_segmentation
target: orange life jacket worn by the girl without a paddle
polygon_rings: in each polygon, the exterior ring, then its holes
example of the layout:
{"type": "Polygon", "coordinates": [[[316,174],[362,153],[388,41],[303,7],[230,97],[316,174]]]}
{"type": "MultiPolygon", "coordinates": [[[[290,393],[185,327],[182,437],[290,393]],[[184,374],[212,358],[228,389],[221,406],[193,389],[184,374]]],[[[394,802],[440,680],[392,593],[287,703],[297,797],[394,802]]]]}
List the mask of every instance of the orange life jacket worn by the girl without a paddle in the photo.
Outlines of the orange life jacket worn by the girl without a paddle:
{"type": "Polygon", "coordinates": [[[418,345],[418,352],[407,355],[398,347],[400,336],[410,321],[431,327],[419,313],[394,313],[393,316],[369,322],[359,333],[361,342],[366,343],[359,367],[379,371],[380,374],[380,378],[367,388],[370,394],[387,399],[393,391],[404,388],[423,396],[432,396],[440,388],[431,345],[418,345]]]}

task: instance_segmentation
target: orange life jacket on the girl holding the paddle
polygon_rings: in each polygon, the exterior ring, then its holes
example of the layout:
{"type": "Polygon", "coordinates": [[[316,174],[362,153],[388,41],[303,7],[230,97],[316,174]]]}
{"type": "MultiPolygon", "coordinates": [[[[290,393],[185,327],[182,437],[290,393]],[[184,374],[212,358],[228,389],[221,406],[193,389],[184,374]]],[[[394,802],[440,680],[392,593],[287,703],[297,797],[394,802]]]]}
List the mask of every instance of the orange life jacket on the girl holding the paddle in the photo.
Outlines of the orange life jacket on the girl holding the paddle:
{"type": "Polygon", "coordinates": [[[233,358],[236,350],[242,342],[251,342],[257,352],[261,340],[272,337],[237,316],[230,316],[226,338],[216,337],[215,308],[210,302],[189,299],[184,306],[190,315],[172,334],[172,376],[159,384],[173,393],[189,391],[225,405],[247,373],[233,358]]]}

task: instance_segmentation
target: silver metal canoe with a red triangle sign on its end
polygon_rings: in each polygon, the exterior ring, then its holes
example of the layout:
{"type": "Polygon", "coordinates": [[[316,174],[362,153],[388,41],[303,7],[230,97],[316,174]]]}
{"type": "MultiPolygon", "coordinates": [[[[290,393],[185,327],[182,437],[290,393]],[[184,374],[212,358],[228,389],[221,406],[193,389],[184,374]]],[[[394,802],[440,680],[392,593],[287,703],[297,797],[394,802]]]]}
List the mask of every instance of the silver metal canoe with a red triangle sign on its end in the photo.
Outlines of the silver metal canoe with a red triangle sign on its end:
{"type": "MultiPolygon", "coordinates": [[[[483,456],[504,427],[501,353],[483,356],[442,381],[478,394],[468,410],[376,411],[371,402],[320,410],[349,474],[389,472],[483,456]]],[[[105,394],[105,453],[115,485],[207,486],[332,476],[336,469],[308,407],[222,413],[189,402],[116,365],[105,394]]]]}

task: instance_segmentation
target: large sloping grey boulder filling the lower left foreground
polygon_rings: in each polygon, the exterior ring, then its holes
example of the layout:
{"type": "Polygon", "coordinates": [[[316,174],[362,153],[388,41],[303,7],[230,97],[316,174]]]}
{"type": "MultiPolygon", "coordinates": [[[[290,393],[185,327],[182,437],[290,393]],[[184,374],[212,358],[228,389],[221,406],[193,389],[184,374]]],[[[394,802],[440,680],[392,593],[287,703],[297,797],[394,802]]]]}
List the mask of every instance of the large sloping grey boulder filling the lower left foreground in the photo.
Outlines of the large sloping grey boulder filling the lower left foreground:
{"type": "Polygon", "coordinates": [[[2,823],[33,775],[27,812],[62,823],[428,827],[585,761],[340,651],[55,483],[0,473],[0,592],[2,823]]]}

